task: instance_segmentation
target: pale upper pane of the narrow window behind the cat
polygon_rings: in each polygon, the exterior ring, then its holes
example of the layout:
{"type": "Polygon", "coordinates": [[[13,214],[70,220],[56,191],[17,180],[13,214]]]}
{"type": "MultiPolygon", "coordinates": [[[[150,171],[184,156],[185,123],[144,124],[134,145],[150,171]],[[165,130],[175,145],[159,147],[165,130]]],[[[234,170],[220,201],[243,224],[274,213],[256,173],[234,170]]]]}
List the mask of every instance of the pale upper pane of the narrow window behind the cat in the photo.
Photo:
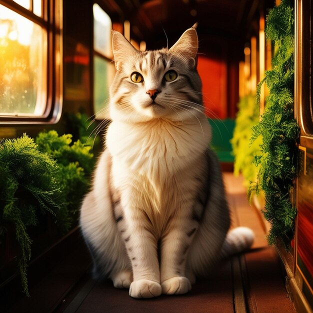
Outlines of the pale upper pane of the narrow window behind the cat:
{"type": "Polygon", "coordinates": [[[98,4],[93,4],[93,48],[108,58],[112,58],[111,29],[110,17],[98,4]]]}

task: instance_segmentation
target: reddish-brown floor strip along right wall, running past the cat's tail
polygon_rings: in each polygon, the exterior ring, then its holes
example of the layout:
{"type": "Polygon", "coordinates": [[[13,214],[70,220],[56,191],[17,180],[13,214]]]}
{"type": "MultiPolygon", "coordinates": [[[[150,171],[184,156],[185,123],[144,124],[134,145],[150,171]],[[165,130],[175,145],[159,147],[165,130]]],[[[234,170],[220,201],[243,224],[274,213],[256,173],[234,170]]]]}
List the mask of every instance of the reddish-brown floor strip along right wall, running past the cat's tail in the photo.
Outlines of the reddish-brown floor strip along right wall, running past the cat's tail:
{"type": "Polygon", "coordinates": [[[255,233],[250,251],[241,258],[243,285],[249,312],[272,313],[295,312],[292,302],[284,288],[283,272],[274,247],[266,241],[265,227],[261,223],[259,212],[250,206],[245,189],[241,190],[241,178],[224,175],[232,213],[240,226],[248,226],[255,233]],[[235,183],[237,181],[237,184],[235,183]]]}

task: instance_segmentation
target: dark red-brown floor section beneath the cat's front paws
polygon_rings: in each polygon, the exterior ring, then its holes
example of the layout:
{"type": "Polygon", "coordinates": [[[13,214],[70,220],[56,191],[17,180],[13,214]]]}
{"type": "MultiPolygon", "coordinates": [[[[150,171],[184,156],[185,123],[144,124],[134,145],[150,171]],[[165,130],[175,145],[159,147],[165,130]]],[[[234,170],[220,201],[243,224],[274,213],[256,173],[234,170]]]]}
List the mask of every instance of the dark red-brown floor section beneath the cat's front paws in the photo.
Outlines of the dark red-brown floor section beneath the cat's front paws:
{"type": "Polygon", "coordinates": [[[233,313],[230,261],[218,266],[210,279],[197,281],[185,295],[161,295],[133,299],[127,289],[116,289],[111,281],[97,283],[76,312],[212,312],[233,313]]]}

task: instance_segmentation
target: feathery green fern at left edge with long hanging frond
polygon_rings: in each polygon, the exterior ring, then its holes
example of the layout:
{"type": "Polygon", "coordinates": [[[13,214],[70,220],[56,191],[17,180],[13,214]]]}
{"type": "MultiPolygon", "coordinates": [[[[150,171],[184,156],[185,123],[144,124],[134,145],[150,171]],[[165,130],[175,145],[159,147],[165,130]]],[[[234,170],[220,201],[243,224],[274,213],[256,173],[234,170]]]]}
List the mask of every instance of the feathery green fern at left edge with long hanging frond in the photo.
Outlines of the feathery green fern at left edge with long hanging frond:
{"type": "Polygon", "coordinates": [[[31,245],[27,226],[35,225],[39,214],[55,215],[63,207],[53,175],[56,169],[55,161],[40,152],[26,134],[0,143],[0,234],[11,225],[15,228],[20,247],[18,266],[26,294],[31,245]]]}

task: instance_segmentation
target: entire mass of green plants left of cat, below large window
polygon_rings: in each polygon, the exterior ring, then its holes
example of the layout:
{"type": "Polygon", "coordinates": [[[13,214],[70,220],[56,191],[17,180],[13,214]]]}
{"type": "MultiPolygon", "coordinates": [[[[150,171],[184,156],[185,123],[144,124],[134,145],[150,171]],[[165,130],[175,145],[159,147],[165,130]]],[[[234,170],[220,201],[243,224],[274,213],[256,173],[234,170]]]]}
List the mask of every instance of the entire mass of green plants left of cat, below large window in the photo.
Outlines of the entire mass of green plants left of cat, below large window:
{"type": "Polygon", "coordinates": [[[0,235],[9,227],[15,229],[17,263],[27,295],[32,242],[28,228],[46,213],[62,232],[76,224],[93,165],[90,146],[80,140],[72,143],[70,134],[58,136],[55,130],[39,133],[35,142],[26,134],[0,142],[0,235]]]}

